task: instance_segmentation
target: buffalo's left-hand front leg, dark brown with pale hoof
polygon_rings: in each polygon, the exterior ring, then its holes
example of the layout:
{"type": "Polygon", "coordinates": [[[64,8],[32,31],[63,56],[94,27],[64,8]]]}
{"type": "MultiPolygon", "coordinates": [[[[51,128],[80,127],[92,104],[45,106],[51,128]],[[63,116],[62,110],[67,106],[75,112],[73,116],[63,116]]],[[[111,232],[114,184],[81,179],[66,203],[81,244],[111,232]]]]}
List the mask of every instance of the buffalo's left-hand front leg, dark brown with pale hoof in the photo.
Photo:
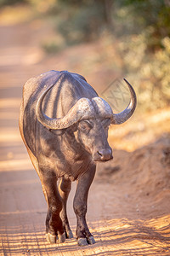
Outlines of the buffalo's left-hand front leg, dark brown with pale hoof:
{"type": "Polygon", "coordinates": [[[62,200],[57,189],[57,178],[55,175],[42,177],[42,186],[45,190],[48,203],[48,213],[46,218],[46,238],[50,243],[65,241],[65,232],[59,212],[62,210],[62,200]]]}

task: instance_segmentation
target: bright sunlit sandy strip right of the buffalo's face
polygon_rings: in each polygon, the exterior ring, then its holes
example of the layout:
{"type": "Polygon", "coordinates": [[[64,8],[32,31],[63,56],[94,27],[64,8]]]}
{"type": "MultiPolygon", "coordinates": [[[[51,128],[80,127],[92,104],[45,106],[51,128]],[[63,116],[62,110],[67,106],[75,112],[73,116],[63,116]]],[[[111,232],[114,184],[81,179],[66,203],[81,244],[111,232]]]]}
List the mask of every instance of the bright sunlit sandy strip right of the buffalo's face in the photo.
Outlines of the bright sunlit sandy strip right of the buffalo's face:
{"type": "Polygon", "coordinates": [[[123,125],[113,125],[109,131],[112,148],[133,151],[157,137],[170,132],[170,108],[156,110],[152,113],[134,113],[123,125]]]}

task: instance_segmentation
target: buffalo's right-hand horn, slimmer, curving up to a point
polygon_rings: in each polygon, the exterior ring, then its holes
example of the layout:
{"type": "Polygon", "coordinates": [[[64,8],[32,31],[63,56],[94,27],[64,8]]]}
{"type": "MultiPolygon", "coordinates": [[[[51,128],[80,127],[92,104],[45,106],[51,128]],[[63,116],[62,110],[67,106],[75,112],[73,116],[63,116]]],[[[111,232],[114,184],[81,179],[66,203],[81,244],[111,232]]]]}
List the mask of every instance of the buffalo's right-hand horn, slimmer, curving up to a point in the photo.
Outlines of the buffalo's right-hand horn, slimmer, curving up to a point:
{"type": "Polygon", "coordinates": [[[128,89],[130,90],[131,100],[127,108],[125,108],[121,113],[113,113],[113,119],[111,121],[112,125],[120,125],[127,121],[127,119],[129,119],[132,116],[136,108],[137,99],[135,91],[133,90],[133,86],[129,84],[126,79],[124,79],[124,81],[127,83],[128,89]]]}

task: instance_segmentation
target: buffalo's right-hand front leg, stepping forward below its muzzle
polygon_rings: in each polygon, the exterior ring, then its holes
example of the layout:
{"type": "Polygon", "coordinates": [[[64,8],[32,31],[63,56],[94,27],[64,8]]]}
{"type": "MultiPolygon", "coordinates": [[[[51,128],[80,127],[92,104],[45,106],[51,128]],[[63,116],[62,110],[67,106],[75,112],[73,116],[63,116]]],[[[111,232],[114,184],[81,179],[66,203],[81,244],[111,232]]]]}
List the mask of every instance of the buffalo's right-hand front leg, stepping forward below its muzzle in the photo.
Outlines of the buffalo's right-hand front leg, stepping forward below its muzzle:
{"type": "Polygon", "coordinates": [[[96,166],[91,166],[87,172],[77,181],[77,191],[73,202],[74,211],[77,215],[77,242],[79,246],[94,244],[94,236],[88,230],[86,222],[88,190],[94,180],[96,166]]]}

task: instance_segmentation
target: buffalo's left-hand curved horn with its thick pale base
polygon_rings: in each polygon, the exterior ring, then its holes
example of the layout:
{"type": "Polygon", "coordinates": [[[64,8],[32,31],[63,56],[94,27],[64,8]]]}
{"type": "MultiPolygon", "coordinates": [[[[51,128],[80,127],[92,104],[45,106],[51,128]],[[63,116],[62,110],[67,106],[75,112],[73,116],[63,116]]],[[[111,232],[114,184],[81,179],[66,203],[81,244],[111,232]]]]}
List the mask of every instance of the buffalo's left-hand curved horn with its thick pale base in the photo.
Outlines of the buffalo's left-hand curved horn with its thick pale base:
{"type": "Polygon", "coordinates": [[[48,129],[65,129],[71,125],[77,123],[80,119],[89,119],[94,116],[94,107],[88,98],[79,99],[76,104],[69,110],[69,112],[63,118],[52,119],[49,118],[42,111],[42,102],[44,97],[47,95],[48,90],[50,90],[54,84],[48,87],[47,90],[42,92],[39,97],[36,106],[36,114],[38,121],[48,129]]]}

